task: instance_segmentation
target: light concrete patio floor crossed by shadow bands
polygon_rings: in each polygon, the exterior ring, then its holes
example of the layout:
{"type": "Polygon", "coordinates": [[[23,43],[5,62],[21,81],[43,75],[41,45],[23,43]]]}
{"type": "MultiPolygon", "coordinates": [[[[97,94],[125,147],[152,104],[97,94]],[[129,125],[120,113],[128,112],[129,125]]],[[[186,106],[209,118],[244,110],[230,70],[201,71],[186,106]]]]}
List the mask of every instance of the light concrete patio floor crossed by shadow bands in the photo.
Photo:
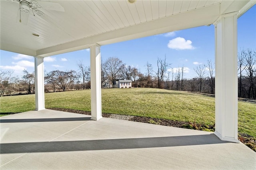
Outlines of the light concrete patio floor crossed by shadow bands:
{"type": "Polygon", "coordinates": [[[213,133],[61,111],[0,118],[0,169],[256,169],[256,153],[213,133]]]}

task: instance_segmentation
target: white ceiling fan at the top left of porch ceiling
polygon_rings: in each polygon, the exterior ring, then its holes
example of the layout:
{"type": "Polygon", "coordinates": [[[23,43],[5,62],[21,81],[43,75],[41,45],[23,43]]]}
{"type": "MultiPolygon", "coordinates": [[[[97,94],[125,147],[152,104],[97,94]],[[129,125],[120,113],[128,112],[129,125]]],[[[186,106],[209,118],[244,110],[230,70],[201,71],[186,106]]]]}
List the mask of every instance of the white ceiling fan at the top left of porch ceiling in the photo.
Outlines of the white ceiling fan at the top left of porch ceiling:
{"type": "Polygon", "coordinates": [[[32,12],[34,16],[46,18],[46,14],[41,10],[54,10],[64,12],[64,8],[56,2],[35,1],[35,0],[7,0],[9,2],[17,2],[19,10],[17,14],[17,22],[27,25],[29,13],[32,12]]]}

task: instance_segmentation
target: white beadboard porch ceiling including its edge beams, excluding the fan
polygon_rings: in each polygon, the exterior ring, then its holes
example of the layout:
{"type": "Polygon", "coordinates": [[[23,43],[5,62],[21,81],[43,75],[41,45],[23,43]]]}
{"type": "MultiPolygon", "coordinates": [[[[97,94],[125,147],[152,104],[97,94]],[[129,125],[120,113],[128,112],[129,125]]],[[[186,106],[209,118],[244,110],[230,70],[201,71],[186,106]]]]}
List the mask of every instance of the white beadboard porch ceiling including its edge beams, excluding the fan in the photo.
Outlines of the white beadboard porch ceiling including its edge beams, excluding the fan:
{"type": "MultiPolygon", "coordinates": [[[[32,0],[27,0],[31,2],[32,0]]],[[[40,4],[40,0],[37,0],[40,4]]],[[[19,4],[0,0],[0,48],[32,56],[50,56],[165,32],[213,24],[220,15],[242,15],[255,0],[50,0],[64,12],[30,11],[28,24],[16,22],[19,4]],[[38,34],[35,37],[32,34],[38,34]]]]}

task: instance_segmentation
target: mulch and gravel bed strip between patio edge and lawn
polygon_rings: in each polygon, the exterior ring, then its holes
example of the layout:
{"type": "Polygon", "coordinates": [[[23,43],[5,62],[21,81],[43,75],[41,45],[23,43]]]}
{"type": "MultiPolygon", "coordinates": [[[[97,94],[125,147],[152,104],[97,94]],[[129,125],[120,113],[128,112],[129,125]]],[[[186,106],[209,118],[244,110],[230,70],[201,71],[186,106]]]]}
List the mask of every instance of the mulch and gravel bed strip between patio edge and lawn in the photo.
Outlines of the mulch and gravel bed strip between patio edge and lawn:
{"type": "MultiPolygon", "coordinates": [[[[74,109],[63,109],[63,108],[47,108],[56,111],[64,111],[70,113],[78,113],[83,115],[91,115],[91,112],[88,111],[79,111],[74,109]]],[[[214,132],[215,125],[204,125],[198,124],[195,122],[184,122],[184,121],[172,121],[168,119],[161,119],[161,118],[150,118],[150,117],[140,117],[140,116],[130,116],[130,115],[118,115],[118,114],[111,114],[111,113],[102,113],[102,117],[112,118],[112,119],[122,119],[126,121],[134,121],[134,122],[141,122],[141,123],[151,123],[155,125],[164,125],[169,127],[178,127],[178,128],[188,128],[194,130],[204,130],[209,132],[214,132]]],[[[248,134],[238,133],[238,140],[244,143],[246,146],[254,150],[256,152],[256,138],[250,136],[248,134]]]]}

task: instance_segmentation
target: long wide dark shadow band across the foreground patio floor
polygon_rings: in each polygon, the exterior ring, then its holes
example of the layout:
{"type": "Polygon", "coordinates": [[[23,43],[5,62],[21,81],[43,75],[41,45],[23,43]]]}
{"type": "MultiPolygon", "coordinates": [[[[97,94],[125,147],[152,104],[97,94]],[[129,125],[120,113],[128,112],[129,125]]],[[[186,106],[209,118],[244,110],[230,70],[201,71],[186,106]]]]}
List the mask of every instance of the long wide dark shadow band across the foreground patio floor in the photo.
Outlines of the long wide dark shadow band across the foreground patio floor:
{"type": "Polygon", "coordinates": [[[110,150],[134,148],[158,148],[202,144],[228,143],[218,140],[214,134],[192,136],[170,136],[153,138],[127,138],[106,140],[80,140],[58,142],[26,142],[1,144],[1,154],[24,152],[67,152],[83,150],[110,150]],[[195,140],[200,139],[200,140],[195,140]],[[12,148],[12,149],[10,149],[12,148]],[[48,148],[47,150],[45,148],[48,148]]]}

